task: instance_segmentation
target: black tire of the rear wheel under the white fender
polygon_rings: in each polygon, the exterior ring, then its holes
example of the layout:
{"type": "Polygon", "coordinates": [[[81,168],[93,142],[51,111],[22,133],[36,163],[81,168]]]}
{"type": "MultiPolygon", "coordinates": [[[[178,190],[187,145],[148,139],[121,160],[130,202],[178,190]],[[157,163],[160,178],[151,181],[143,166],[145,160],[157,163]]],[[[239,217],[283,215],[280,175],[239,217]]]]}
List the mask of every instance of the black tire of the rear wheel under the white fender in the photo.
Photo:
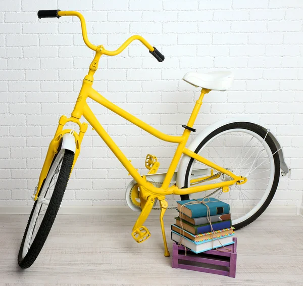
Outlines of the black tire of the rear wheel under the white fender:
{"type": "MultiPolygon", "coordinates": [[[[259,134],[261,137],[265,137],[266,135],[266,131],[260,127],[257,124],[253,124],[253,123],[248,123],[248,122],[235,122],[235,123],[230,123],[224,126],[219,127],[218,129],[216,129],[215,131],[213,131],[212,133],[210,133],[208,136],[206,136],[198,145],[198,147],[196,148],[196,150],[194,151],[196,154],[199,153],[199,151],[201,150],[201,148],[214,136],[218,135],[221,132],[224,132],[226,130],[231,130],[231,129],[235,129],[235,128],[241,128],[241,129],[247,129],[250,131],[253,131],[257,134],[259,134]]],[[[273,180],[273,184],[272,184],[272,188],[270,190],[270,193],[266,199],[266,201],[263,203],[263,205],[260,207],[260,209],[253,214],[252,216],[250,216],[249,218],[247,218],[246,220],[237,223],[235,225],[233,225],[233,227],[235,227],[235,229],[240,229],[246,225],[248,225],[249,223],[255,221],[265,210],[266,208],[269,206],[270,202],[272,201],[275,193],[276,193],[276,189],[278,187],[278,183],[279,183],[279,178],[280,178],[280,159],[279,159],[279,154],[277,152],[277,148],[276,145],[274,143],[274,141],[272,140],[272,138],[270,136],[266,136],[265,141],[267,142],[272,154],[273,158],[274,158],[274,165],[275,165],[275,173],[274,173],[274,180],[273,180]]],[[[192,166],[194,162],[194,159],[191,158],[188,166],[186,168],[186,173],[185,173],[185,182],[184,182],[184,187],[188,187],[188,178],[189,178],[189,172],[190,172],[190,168],[192,166]]],[[[181,195],[181,200],[189,200],[189,195],[181,195]]]]}

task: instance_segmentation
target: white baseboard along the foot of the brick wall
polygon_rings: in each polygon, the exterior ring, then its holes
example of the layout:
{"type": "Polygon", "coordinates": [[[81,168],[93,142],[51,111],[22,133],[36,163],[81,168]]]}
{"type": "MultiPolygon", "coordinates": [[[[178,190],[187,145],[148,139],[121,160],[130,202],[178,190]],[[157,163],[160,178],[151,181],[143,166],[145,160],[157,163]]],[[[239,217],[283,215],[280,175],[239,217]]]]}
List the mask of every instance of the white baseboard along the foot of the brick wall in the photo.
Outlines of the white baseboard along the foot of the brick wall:
{"type": "MultiPolygon", "coordinates": [[[[0,206],[0,214],[30,214],[32,206],[0,206]]],[[[151,211],[151,215],[159,215],[159,210],[151,211]]],[[[238,212],[240,214],[240,212],[238,212]]],[[[61,215],[139,215],[139,212],[132,211],[127,206],[64,206],[59,210],[61,215]]],[[[166,214],[176,215],[176,210],[167,210],[166,214]]],[[[264,212],[265,215],[296,215],[303,216],[303,207],[296,206],[269,206],[264,212]]]]}

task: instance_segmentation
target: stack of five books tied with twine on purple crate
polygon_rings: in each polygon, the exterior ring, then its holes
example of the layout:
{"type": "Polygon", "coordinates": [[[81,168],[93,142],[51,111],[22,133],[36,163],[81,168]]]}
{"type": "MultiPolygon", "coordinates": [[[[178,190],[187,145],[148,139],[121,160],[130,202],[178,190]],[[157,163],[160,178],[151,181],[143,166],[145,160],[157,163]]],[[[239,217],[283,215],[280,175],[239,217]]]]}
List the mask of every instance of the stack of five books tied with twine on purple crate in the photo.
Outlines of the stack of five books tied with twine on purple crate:
{"type": "Polygon", "coordinates": [[[177,204],[179,216],[171,226],[171,238],[174,242],[181,243],[194,253],[233,244],[234,228],[231,225],[228,204],[215,198],[179,201],[177,204]],[[208,208],[204,204],[188,204],[197,200],[204,200],[208,205],[209,217],[208,208]]]}

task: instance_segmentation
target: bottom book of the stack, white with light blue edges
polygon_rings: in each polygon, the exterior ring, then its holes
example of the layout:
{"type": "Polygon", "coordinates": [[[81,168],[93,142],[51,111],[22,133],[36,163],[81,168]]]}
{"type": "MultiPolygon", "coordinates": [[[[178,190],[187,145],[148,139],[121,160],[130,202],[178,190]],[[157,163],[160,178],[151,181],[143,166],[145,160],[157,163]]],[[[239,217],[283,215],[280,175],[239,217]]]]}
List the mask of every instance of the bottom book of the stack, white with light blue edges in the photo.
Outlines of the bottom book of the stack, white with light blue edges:
{"type": "Polygon", "coordinates": [[[208,250],[215,249],[215,248],[218,248],[221,246],[227,246],[227,245],[233,244],[234,243],[232,241],[233,235],[234,234],[229,234],[220,239],[214,239],[214,240],[210,239],[210,240],[206,240],[203,242],[193,242],[193,241],[187,239],[186,237],[182,237],[182,241],[181,241],[180,234],[172,231],[171,239],[176,243],[181,242],[181,245],[189,248],[194,253],[200,253],[200,252],[208,251],[208,250]]]}

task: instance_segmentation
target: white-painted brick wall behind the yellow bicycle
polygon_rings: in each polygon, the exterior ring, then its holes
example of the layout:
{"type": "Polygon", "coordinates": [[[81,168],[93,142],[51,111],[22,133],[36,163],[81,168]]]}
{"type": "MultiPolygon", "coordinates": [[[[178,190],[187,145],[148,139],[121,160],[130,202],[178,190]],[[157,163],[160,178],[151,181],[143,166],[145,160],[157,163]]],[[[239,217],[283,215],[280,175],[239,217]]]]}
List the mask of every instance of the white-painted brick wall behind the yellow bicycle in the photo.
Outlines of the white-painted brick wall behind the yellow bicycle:
{"type": "MultiPolygon", "coordinates": [[[[93,53],[78,19],[41,19],[40,9],[77,10],[89,39],[116,49],[139,33],[163,52],[158,63],[139,43],[104,56],[94,87],[163,132],[180,134],[198,90],[182,82],[187,71],[231,69],[228,92],[211,92],[195,128],[247,114],[279,136],[290,178],[282,178],[275,205],[299,205],[303,185],[303,2],[301,0],[0,2],[0,205],[32,204],[48,142],[60,115],[69,115],[93,53]],[[174,122],[177,124],[175,125],[174,122]]],[[[146,135],[92,104],[100,122],[132,163],[147,153],[168,167],[174,145],[146,135]],[[150,147],[146,147],[150,146],[150,147]]],[[[90,128],[66,192],[67,205],[125,205],[130,177],[90,128]]]]}

